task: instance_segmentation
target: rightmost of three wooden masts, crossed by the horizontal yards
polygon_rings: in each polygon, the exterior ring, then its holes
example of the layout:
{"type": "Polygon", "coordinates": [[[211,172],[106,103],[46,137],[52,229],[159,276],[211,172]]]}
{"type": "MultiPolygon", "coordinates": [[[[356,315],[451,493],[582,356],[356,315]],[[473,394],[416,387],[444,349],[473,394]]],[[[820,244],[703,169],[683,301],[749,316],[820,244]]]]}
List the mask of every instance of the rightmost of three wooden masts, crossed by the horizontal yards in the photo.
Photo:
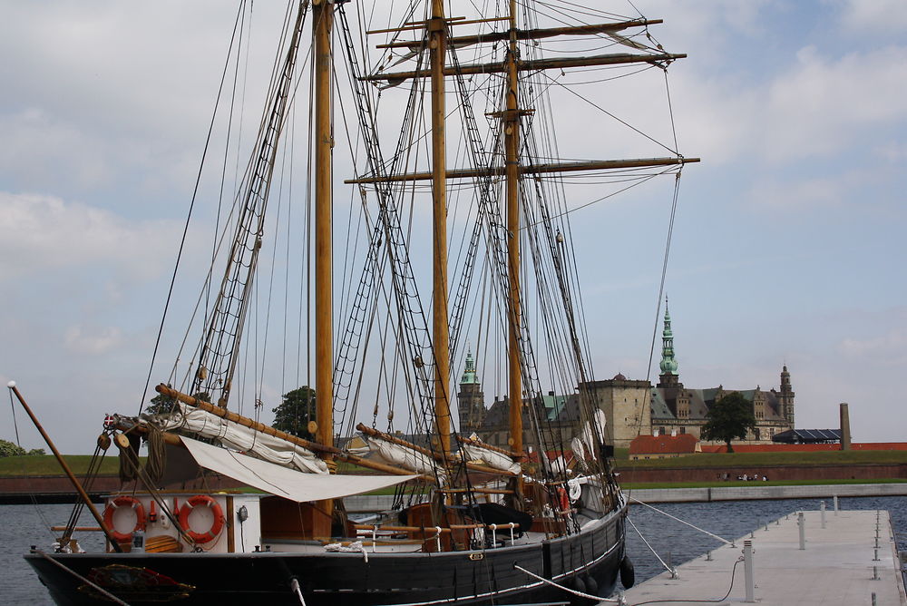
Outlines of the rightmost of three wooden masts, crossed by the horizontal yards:
{"type": "Polygon", "coordinates": [[[507,376],[510,395],[511,448],[522,453],[522,376],[520,367],[520,110],[517,80],[516,0],[510,0],[510,45],[507,50],[507,110],[503,114],[507,182],[507,376]]]}

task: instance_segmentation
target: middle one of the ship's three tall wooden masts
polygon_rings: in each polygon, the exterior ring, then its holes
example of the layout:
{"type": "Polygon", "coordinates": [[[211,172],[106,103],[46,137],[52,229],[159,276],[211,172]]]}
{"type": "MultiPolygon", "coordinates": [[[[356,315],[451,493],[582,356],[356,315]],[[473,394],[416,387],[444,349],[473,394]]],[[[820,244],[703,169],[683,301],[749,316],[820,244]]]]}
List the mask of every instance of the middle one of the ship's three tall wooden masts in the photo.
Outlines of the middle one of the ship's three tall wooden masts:
{"type": "Polygon", "coordinates": [[[428,22],[429,59],[432,72],[432,206],[433,274],[432,342],[434,344],[434,419],[444,456],[451,449],[450,334],[447,312],[447,146],[444,139],[444,57],[447,31],[444,0],[432,0],[428,22]]]}

